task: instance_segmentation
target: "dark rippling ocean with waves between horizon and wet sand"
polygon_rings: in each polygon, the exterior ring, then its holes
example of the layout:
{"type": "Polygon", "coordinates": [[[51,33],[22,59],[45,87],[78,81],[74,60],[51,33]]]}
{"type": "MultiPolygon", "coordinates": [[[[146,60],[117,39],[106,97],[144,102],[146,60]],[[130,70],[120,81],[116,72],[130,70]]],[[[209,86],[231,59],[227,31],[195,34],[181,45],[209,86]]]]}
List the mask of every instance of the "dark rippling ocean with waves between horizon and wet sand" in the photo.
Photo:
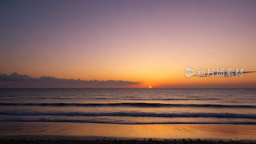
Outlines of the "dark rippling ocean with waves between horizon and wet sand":
{"type": "Polygon", "coordinates": [[[256,89],[0,89],[0,121],[256,125],[256,89]]]}

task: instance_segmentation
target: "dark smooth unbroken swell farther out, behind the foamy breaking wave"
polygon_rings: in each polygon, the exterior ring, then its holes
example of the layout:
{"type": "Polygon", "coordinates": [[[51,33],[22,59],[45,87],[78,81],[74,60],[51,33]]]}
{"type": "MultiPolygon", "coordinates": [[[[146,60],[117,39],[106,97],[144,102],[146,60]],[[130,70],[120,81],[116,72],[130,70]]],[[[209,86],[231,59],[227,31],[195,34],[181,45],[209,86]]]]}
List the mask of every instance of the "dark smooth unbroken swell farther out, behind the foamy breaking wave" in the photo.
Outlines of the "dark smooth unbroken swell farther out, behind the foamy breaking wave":
{"type": "Polygon", "coordinates": [[[0,105],[22,106],[76,106],[76,107],[214,107],[214,108],[256,108],[256,105],[221,105],[221,104],[160,104],[160,103],[108,103],[108,104],[80,104],[80,103],[0,103],[0,105]]]}

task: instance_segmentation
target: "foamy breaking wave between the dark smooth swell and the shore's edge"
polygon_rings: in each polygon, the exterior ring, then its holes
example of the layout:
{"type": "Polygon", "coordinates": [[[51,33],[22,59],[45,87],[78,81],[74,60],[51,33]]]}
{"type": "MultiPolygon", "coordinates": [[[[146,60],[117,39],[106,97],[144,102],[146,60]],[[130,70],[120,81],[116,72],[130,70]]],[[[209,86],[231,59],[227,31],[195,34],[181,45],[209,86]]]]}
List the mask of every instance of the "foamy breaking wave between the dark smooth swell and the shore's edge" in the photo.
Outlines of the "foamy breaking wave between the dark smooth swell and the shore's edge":
{"type": "Polygon", "coordinates": [[[234,113],[144,113],[144,112],[0,112],[5,115],[58,115],[58,116],[126,116],[126,117],[207,117],[207,118],[248,118],[256,119],[253,114],[234,113]]]}

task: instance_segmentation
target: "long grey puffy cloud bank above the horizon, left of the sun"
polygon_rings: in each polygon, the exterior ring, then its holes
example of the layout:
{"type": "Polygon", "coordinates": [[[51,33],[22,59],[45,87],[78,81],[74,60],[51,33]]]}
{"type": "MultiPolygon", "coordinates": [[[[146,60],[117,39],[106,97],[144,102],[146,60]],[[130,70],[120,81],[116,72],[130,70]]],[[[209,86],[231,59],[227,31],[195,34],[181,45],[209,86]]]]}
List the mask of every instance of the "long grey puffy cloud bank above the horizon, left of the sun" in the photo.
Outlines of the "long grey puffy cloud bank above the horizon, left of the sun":
{"type": "Polygon", "coordinates": [[[47,84],[84,84],[84,85],[138,85],[142,82],[131,82],[131,81],[115,81],[115,80],[107,80],[107,81],[98,81],[98,80],[90,80],[83,81],[81,79],[59,79],[50,76],[41,76],[40,78],[33,78],[28,75],[19,75],[17,73],[12,73],[10,76],[0,74],[0,81],[16,81],[16,82],[34,82],[34,83],[47,83],[47,84]]]}

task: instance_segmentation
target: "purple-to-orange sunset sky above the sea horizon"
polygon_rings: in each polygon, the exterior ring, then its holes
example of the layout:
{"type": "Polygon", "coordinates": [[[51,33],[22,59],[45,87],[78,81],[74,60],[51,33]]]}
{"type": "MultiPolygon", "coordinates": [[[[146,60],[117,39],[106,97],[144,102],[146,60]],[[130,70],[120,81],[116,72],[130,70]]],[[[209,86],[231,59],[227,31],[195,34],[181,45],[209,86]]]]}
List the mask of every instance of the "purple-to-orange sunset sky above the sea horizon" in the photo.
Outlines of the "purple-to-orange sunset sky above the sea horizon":
{"type": "Polygon", "coordinates": [[[0,88],[256,88],[256,73],[184,74],[256,71],[255,14],[254,0],[2,0],[0,88]]]}

